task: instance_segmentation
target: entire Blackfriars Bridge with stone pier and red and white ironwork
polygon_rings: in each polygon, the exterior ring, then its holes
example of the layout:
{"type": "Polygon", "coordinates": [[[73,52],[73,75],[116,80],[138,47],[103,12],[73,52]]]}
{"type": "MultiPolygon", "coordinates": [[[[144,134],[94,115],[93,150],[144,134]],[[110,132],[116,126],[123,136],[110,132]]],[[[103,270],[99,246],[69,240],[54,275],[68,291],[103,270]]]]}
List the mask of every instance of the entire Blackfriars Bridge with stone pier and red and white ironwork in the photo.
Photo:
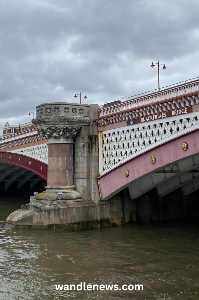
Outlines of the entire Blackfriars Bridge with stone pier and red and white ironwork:
{"type": "Polygon", "coordinates": [[[198,216],[199,80],[102,108],[44,103],[32,123],[0,139],[0,187],[43,186],[7,223],[76,230],[198,216]]]}

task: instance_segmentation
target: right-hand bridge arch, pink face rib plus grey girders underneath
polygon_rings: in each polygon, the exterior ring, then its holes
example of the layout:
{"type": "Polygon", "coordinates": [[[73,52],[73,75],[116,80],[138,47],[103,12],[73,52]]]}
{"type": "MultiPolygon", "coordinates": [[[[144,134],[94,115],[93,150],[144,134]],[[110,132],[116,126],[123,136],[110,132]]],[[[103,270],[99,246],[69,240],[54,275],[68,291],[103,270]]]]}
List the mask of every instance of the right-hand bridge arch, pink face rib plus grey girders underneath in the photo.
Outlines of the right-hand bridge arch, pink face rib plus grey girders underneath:
{"type": "Polygon", "coordinates": [[[198,152],[198,129],[154,147],[100,176],[98,183],[101,199],[110,199],[126,187],[129,188],[131,198],[137,198],[160,184],[164,184],[163,191],[161,188],[157,190],[160,196],[182,186],[184,194],[192,193],[199,189],[198,152]],[[186,150],[182,149],[184,142],[188,144],[186,150]],[[151,157],[155,157],[153,164],[151,157]],[[171,172],[168,172],[169,169],[171,172]],[[126,170],[129,171],[128,177],[125,176],[126,170]]]}

